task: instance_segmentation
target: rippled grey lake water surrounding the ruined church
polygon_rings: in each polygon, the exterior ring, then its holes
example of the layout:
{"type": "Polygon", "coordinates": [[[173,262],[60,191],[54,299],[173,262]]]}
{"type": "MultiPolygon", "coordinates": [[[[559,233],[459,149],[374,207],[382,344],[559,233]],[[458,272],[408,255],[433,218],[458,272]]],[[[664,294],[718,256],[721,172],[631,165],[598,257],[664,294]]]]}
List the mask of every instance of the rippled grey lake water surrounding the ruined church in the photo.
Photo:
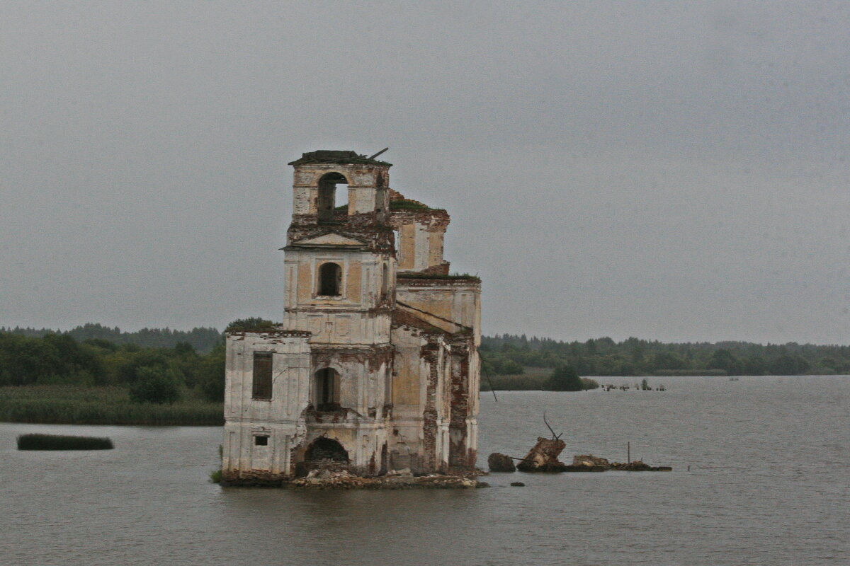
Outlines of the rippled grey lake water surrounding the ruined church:
{"type": "Polygon", "coordinates": [[[490,474],[480,490],[222,489],[218,428],[0,423],[0,563],[850,563],[850,378],[649,384],[667,390],[482,393],[479,466],[548,435],[545,410],[564,461],[624,461],[629,441],[672,473],[490,474]],[[15,450],[37,431],[116,449],[15,450]]]}

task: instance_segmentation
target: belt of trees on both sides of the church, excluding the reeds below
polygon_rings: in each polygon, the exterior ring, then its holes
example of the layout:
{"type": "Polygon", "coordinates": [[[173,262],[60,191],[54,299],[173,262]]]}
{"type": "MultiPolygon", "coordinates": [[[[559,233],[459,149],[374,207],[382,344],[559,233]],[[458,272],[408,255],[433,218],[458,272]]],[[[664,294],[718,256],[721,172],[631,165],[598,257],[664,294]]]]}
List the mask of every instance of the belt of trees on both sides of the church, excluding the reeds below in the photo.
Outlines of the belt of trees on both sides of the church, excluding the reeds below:
{"type": "MultiPolygon", "coordinates": [[[[256,325],[258,320],[235,321],[230,327],[256,325]]],[[[482,338],[480,352],[485,370],[503,376],[521,375],[526,367],[572,367],[580,376],[850,373],[850,346],[793,342],[663,344],[636,338],[562,342],[496,334],[482,338]]],[[[222,333],[215,328],[122,332],[93,323],[67,332],[0,328],[0,386],[132,387],[139,376],[152,378],[151,372],[160,381],[178,384],[184,392],[220,400],[224,392],[222,333]]]]}

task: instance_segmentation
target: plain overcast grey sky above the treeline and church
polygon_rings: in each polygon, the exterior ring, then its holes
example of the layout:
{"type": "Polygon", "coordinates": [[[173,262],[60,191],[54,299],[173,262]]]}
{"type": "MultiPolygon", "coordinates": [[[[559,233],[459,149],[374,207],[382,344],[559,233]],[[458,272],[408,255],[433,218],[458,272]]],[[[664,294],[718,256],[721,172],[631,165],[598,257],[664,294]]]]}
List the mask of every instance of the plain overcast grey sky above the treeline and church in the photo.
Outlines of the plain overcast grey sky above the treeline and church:
{"type": "Polygon", "coordinates": [[[389,146],[484,333],[850,343],[850,3],[7,2],[0,120],[0,326],[279,320],[389,146]]]}

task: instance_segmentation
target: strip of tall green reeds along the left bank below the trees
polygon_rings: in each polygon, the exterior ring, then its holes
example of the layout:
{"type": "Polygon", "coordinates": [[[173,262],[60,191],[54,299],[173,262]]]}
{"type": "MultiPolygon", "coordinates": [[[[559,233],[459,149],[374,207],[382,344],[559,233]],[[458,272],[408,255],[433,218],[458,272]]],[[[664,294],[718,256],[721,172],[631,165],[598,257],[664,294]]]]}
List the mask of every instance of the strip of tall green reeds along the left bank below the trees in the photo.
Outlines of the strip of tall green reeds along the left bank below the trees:
{"type": "Polygon", "coordinates": [[[221,403],[188,398],[173,405],[134,403],[121,387],[0,387],[0,421],[50,424],[221,426],[221,403]]]}

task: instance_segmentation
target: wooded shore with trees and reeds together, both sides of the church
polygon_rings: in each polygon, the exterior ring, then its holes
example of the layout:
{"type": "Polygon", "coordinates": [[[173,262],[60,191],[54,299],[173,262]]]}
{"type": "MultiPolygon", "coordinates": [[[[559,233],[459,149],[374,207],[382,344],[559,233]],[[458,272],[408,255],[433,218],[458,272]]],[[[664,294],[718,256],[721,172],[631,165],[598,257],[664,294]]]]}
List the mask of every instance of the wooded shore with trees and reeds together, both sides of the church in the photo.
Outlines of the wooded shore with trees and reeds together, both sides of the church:
{"type": "MultiPolygon", "coordinates": [[[[248,318],[228,328],[272,324],[248,318]]],[[[597,388],[594,379],[580,377],[588,375],[850,373],[850,346],[839,345],[563,342],[496,334],[482,338],[480,354],[482,390],[597,388]]],[[[215,328],[0,328],[0,421],[220,426],[222,401],[224,342],[215,328]]]]}

